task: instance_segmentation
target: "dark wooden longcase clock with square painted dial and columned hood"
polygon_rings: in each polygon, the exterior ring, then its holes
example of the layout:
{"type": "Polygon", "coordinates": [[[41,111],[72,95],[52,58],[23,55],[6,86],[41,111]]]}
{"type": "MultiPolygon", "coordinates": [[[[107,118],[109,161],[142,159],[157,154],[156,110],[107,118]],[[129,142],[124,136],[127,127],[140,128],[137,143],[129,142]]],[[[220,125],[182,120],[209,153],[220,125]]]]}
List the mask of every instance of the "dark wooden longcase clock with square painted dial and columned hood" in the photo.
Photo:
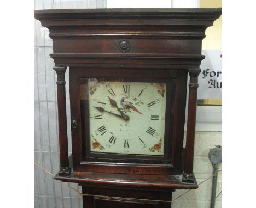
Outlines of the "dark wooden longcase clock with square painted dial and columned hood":
{"type": "Polygon", "coordinates": [[[219,8],[34,11],[53,39],[61,164],[55,179],[82,186],[84,207],[170,207],[175,189],[197,188],[201,42],[220,14],[219,8]]]}

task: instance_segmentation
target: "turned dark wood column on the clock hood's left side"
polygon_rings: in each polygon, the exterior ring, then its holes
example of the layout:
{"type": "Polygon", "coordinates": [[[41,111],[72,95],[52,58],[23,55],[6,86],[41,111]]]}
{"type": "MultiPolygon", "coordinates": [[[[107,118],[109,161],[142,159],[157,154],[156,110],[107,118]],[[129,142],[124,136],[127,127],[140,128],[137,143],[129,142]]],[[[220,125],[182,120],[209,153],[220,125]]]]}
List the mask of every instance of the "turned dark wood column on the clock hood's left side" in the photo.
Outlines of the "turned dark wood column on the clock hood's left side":
{"type": "Polygon", "coordinates": [[[60,175],[69,175],[68,163],[68,137],[67,137],[67,114],[66,114],[66,89],[65,72],[66,67],[54,67],[57,73],[57,100],[59,121],[59,143],[60,143],[60,175]]]}

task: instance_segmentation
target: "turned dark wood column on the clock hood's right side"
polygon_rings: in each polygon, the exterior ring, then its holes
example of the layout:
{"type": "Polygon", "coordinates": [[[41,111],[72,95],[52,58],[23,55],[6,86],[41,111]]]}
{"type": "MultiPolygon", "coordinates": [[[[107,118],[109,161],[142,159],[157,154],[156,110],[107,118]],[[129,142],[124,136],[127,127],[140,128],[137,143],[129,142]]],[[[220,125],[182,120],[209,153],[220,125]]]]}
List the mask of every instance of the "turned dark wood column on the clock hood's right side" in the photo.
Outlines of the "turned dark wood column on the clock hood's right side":
{"type": "Polygon", "coordinates": [[[195,124],[196,124],[196,106],[197,106],[197,88],[200,69],[189,69],[189,101],[188,101],[188,121],[187,138],[185,149],[185,163],[183,172],[183,181],[194,182],[193,160],[195,144],[195,124]]]}

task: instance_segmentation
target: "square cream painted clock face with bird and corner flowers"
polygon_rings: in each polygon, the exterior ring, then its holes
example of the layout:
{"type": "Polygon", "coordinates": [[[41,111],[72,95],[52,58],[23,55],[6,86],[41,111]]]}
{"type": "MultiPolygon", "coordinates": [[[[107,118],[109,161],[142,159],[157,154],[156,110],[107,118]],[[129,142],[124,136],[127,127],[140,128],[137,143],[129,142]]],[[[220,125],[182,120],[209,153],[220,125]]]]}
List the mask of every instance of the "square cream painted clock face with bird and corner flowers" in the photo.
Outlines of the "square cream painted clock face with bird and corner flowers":
{"type": "Polygon", "coordinates": [[[88,81],[90,151],[164,155],[166,83],[88,81]]]}

